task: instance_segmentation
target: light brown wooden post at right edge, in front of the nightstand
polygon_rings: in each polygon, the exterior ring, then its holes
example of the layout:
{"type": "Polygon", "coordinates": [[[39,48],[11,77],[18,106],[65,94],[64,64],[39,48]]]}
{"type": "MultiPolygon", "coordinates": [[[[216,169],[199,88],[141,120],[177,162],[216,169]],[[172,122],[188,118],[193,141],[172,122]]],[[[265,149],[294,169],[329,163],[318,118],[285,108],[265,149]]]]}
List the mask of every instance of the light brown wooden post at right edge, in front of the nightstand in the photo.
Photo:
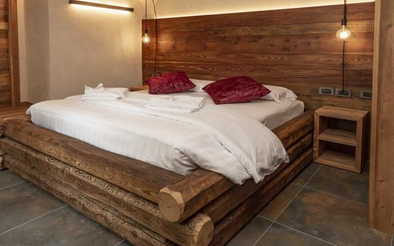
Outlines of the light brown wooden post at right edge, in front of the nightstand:
{"type": "Polygon", "coordinates": [[[394,2],[376,0],[369,226],[394,235],[394,2]]]}

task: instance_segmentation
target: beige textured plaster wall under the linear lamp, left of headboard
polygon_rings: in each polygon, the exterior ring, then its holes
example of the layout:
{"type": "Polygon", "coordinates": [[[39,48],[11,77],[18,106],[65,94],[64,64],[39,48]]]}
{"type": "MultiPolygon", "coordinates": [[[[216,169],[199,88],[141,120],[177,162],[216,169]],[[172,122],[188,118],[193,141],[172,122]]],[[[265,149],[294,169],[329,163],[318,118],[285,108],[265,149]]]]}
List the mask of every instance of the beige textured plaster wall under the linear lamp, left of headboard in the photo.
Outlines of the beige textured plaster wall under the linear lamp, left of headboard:
{"type": "Polygon", "coordinates": [[[84,85],[141,84],[144,11],[140,0],[115,4],[134,7],[134,12],[69,4],[68,0],[24,1],[26,61],[21,66],[26,66],[26,74],[21,90],[26,91],[21,93],[22,101],[81,94],[84,85]]]}

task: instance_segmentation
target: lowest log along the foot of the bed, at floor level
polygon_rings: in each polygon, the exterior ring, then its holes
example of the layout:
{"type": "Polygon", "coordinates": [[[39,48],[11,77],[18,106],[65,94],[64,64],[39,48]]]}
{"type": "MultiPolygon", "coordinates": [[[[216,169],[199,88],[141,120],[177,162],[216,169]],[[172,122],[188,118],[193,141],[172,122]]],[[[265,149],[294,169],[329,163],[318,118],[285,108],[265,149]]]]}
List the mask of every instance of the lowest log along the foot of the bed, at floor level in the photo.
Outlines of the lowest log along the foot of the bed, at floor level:
{"type": "Polygon", "coordinates": [[[95,203],[93,199],[86,197],[78,190],[63,184],[50,175],[35,169],[29,163],[10,154],[6,154],[4,159],[5,165],[24,179],[52,193],[82,214],[121,235],[132,244],[159,246],[168,243],[164,237],[157,235],[130,218],[127,220],[124,217],[120,218],[112,213],[113,209],[108,205],[95,203]]]}

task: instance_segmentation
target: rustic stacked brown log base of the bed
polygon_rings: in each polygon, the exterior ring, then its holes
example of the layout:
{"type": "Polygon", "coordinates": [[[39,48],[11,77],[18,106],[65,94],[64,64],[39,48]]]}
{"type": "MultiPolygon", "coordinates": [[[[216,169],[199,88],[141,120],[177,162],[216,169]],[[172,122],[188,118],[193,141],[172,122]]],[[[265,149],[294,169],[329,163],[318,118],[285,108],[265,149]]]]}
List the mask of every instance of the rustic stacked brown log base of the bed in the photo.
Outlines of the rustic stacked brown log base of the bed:
{"type": "Polygon", "coordinates": [[[224,245],[312,161],[313,122],[308,111],[273,130],[290,163],[258,184],[204,169],[182,176],[21,120],[3,124],[0,167],[132,244],[224,245]]]}

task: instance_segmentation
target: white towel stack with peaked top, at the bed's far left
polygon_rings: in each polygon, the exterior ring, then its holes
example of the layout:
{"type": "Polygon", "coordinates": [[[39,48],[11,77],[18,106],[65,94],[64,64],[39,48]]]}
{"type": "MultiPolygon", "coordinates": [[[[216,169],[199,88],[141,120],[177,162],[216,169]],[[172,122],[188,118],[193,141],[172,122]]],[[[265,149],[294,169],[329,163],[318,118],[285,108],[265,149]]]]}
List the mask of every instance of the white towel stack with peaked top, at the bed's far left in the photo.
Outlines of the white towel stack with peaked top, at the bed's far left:
{"type": "Polygon", "coordinates": [[[127,88],[104,88],[100,83],[96,88],[85,86],[81,100],[117,100],[126,97],[127,88]]]}

